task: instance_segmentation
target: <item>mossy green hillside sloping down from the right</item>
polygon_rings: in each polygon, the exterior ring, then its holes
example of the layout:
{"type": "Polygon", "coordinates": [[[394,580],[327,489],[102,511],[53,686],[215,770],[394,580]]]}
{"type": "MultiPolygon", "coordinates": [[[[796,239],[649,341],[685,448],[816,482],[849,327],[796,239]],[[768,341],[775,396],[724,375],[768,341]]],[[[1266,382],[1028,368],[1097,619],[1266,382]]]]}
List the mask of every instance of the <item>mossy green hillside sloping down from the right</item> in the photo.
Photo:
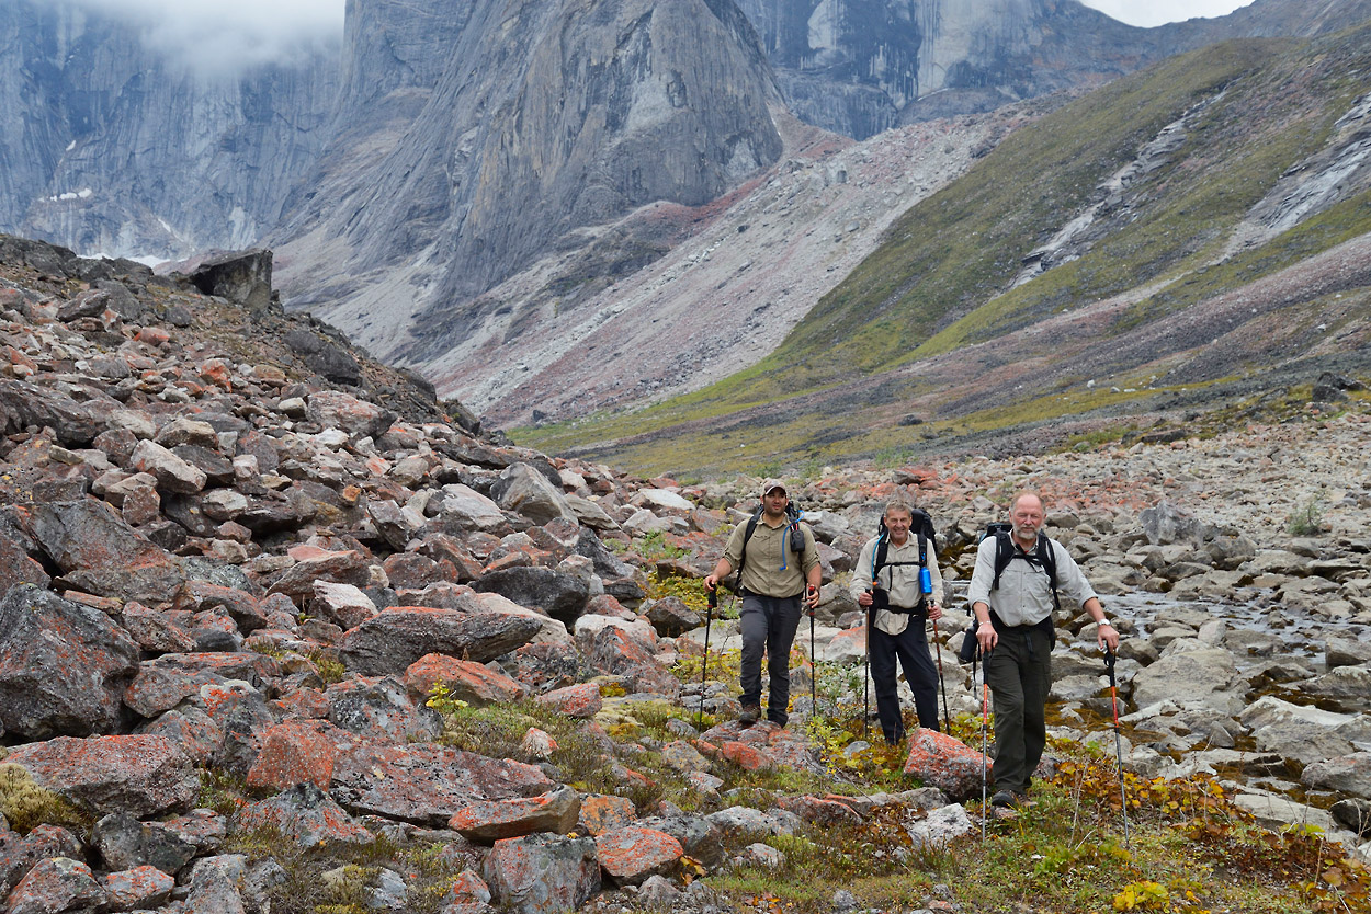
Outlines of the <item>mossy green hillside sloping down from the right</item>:
{"type": "MultiPolygon", "coordinates": [[[[1371,180],[1363,169],[1360,188],[1335,206],[1226,254],[1254,204],[1291,166],[1323,151],[1338,119],[1368,90],[1371,25],[1315,42],[1226,42],[1121,78],[1012,133],[962,178],[912,207],[753,369],[639,412],[517,437],[644,470],[710,473],[917,452],[1001,426],[1156,408],[1157,397],[1148,395],[1127,397],[1131,404],[1102,393],[1064,399],[1084,381],[1072,374],[1076,362],[1065,360],[1073,345],[1016,344],[1012,356],[1001,356],[1039,360],[1031,375],[1016,378],[1013,397],[979,389],[947,356],[1123,293],[1126,308],[1104,329],[1093,325],[1093,338],[1072,343],[1127,351],[1130,334],[1167,315],[1371,232],[1371,180]],[[1095,214],[1073,259],[1010,289],[1031,252],[1097,204],[1098,188],[1182,119],[1183,141],[1095,214]],[[923,419],[917,432],[898,425],[910,411],[923,419]]],[[[1355,332],[1366,325],[1366,291],[1353,284],[1341,292],[1355,332]]],[[[1359,340],[1345,347],[1355,366],[1366,358],[1359,340]]],[[[1127,356],[1115,367],[1142,371],[1153,358],[1175,367],[1190,345],[1168,336],[1152,358],[1127,356]]],[[[1270,358],[1268,347],[1238,360],[1250,373],[1272,367],[1264,365],[1270,358]]],[[[1187,392],[1222,386],[1231,367],[1197,377],[1191,366],[1187,392]]]]}

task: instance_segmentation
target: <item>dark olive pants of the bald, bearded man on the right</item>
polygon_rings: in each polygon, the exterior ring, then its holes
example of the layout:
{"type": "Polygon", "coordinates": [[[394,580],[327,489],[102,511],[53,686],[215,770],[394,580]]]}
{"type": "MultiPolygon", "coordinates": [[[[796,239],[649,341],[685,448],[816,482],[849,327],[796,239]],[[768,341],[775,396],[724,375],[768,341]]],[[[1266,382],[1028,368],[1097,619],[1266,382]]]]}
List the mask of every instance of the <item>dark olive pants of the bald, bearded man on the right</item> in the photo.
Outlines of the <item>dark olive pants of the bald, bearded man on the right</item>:
{"type": "Polygon", "coordinates": [[[997,791],[1024,793],[1047,744],[1052,636],[1026,626],[997,632],[999,643],[986,658],[986,682],[995,710],[995,763],[991,773],[997,791]]]}

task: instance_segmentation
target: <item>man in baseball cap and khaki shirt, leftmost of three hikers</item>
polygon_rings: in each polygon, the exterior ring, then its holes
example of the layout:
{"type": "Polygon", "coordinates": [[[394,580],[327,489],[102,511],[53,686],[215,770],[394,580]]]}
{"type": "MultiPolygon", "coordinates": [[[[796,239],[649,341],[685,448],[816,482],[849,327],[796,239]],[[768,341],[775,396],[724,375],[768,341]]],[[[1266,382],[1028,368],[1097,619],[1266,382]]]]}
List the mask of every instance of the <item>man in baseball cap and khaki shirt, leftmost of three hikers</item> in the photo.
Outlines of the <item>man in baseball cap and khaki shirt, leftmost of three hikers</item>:
{"type": "Polygon", "coordinates": [[[818,606],[821,570],[814,532],[801,523],[791,510],[786,486],[766,480],[761,488],[761,507],[746,525],[728,537],[724,556],[705,578],[713,591],[718,582],[738,571],[743,608],[738,622],[743,636],[742,695],[743,713],[738,718],[750,726],[761,717],[762,655],[766,655],[766,719],[786,726],[790,719],[790,645],[799,628],[802,606],[810,615],[818,606]]]}

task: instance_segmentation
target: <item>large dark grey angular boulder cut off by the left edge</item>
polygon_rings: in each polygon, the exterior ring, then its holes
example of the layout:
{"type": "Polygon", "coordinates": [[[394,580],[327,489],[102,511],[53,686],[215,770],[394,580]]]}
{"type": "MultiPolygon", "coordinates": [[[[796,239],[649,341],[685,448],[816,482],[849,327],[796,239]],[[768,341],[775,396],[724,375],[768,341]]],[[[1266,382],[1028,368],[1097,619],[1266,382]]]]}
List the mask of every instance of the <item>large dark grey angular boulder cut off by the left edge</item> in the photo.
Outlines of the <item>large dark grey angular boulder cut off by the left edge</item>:
{"type": "Polygon", "coordinates": [[[19,584],[0,599],[0,732],[108,733],[138,645],[100,610],[19,584]]]}

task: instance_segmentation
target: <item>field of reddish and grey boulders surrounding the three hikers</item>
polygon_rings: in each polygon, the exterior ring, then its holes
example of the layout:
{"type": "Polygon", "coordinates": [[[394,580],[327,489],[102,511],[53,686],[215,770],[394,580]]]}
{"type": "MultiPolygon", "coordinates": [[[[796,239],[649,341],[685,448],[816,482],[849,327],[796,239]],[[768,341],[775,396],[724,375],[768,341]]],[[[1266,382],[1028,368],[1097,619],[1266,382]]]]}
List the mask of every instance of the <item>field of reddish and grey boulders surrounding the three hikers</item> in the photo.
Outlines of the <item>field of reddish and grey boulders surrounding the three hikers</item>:
{"type": "MultiPolygon", "coordinates": [[[[681,867],[768,865],[768,835],[883,806],[912,840],[978,828],[979,754],[927,733],[906,793],[732,789],[736,770],[825,770],[808,695],[790,728],[744,730],[732,684],[701,695],[670,669],[703,630],[662,581],[713,565],[754,480],[681,486],[513,447],[284,315],[260,260],[160,280],[5,238],[0,262],[8,914],[302,893],[717,910],[681,867]],[[455,728],[481,707],[526,721],[518,739],[455,728]]],[[[845,582],[884,499],[932,514],[956,592],[978,532],[1034,486],[1124,632],[1134,773],[1215,771],[1259,819],[1366,855],[1371,415],[1339,396],[1208,440],[790,480],[825,563],[821,670],[860,669],[845,582]]],[[[939,632],[954,714],[975,708],[950,659],[964,618],[939,632]]],[[[729,622],[712,634],[727,647],[729,622]]],[[[1064,614],[1058,634],[1056,733],[1112,750],[1093,632],[1064,614]]]]}

